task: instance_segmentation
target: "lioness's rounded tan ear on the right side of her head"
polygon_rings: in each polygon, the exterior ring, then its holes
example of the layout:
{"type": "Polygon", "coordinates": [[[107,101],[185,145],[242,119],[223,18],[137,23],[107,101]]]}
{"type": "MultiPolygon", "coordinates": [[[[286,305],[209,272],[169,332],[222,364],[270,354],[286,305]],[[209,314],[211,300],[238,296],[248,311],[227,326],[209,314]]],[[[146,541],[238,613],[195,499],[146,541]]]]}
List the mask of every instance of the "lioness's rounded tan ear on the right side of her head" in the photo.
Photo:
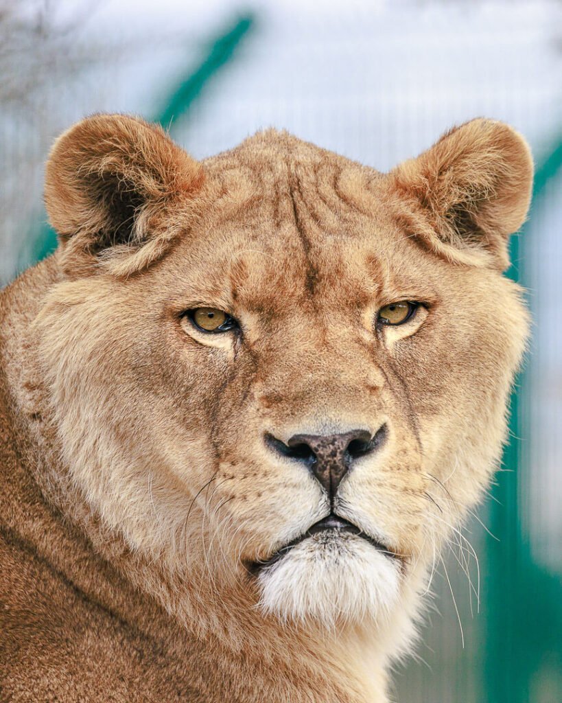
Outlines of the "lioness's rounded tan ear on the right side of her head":
{"type": "Polygon", "coordinates": [[[509,265],[508,238],[525,221],[532,187],[530,150],[514,129],[466,122],[391,178],[414,204],[413,236],[452,260],[509,265]]]}

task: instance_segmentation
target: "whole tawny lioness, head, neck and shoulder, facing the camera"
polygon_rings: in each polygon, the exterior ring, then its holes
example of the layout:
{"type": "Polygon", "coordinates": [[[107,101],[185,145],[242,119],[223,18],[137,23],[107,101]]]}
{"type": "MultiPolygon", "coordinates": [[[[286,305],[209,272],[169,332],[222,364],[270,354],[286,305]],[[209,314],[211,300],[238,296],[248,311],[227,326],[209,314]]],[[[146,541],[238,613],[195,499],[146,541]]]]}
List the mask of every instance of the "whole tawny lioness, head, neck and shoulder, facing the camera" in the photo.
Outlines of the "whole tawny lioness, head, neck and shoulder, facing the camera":
{"type": "Polygon", "coordinates": [[[1,294],[2,701],[381,703],[500,456],[515,131],[388,174],[96,115],[1,294]]]}

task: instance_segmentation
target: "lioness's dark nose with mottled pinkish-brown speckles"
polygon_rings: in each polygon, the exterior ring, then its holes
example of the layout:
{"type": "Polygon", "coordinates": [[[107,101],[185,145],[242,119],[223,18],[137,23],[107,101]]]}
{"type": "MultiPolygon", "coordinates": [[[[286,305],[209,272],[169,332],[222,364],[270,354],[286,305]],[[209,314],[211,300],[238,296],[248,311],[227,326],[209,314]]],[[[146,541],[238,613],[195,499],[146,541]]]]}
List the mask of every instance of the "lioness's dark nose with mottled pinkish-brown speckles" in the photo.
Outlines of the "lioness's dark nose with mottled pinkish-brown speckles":
{"type": "Polygon", "coordinates": [[[271,434],[266,440],[277,453],[306,464],[333,498],[355,460],[378,449],[385,437],[386,425],[382,425],[374,436],[367,430],[351,430],[343,434],[294,434],[287,444],[271,434]]]}

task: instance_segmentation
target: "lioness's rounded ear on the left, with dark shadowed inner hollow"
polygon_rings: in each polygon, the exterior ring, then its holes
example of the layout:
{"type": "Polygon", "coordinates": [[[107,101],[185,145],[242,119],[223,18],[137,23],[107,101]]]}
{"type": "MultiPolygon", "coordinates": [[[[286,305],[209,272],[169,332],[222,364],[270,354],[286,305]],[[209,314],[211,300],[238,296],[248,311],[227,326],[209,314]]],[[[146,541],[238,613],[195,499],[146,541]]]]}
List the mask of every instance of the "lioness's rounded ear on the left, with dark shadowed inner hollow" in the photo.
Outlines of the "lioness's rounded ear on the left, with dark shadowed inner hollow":
{"type": "Polygon", "coordinates": [[[202,185],[199,164],[155,124],[95,115],[55,142],[45,203],[68,272],[127,275],[162,256],[202,185]],[[185,207],[182,208],[185,213],[185,207]]]}

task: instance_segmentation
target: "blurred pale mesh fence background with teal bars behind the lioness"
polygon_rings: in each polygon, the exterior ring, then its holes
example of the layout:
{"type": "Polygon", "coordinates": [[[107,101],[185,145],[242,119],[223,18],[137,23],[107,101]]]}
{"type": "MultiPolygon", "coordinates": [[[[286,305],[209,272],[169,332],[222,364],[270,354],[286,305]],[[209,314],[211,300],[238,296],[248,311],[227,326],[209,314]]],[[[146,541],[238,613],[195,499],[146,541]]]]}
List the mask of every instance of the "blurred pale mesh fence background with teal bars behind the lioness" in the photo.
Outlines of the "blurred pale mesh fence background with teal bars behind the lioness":
{"type": "Polygon", "coordinates": [[[0,0],[0,283],[55,247],[48,148],[91,112],[161,122],[195,157],[286,128],[384,171],[479,115],[530,141],[508,276],[534,335],[487,501],[433,578],[400,703],[562,702],[562,2],[0,0]]]}

